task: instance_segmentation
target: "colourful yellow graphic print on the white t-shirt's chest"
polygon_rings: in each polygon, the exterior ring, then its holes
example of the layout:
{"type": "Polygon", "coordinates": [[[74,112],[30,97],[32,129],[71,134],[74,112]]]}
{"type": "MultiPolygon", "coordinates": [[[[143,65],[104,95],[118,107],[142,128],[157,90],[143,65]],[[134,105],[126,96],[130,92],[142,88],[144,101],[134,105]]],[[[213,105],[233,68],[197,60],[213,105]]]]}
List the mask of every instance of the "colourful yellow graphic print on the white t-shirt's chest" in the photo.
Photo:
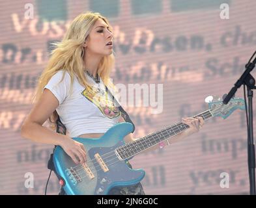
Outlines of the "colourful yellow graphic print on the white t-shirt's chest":
{"type": "Polygon", "coordinates": [[[102,114],[108,118],[115,118],[121,114],[118,107],[113,103],[113,99],[109,99],[107,91],[94,86],[88,86],[83,90],[82,95],[89,101],[94,103],[100,109],[102,114]]]}

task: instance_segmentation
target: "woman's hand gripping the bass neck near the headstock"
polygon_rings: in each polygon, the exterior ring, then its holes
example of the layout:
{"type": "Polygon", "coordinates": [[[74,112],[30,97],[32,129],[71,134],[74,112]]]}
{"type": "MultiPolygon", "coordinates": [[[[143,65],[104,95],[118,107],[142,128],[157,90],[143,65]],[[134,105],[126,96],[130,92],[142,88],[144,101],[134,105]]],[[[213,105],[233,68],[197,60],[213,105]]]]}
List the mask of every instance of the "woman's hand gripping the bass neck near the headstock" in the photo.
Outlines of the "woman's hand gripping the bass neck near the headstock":
{"type": "Polygon", "coordinates": [[[182,123],[186,123],[190,126],[184,133],[186,133],[186,135],[192,135],[193,133],[197,133],[205,122],[202,117],[197,116],[196,118],[182,118],[182,123]]]}

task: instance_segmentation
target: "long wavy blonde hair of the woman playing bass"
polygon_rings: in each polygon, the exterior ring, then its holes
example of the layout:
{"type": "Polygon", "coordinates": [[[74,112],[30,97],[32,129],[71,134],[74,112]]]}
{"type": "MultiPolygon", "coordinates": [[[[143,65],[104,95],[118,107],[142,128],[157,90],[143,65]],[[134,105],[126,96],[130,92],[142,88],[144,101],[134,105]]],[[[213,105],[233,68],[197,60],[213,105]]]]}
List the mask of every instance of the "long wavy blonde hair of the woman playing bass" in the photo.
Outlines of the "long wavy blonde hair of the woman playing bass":
{"type": "MultiPolygon", "coordinates": [[[[51,51],[50,60],[38,78],[35,95],[33,96],[33,103],[38,101],[43,93],[44,86],[47,85],[51,77],[55,75],[55,73],[57,73],[59,70],[64,70],[70,74],[71,86],[74,82],[74,76],[78,78],[78,81],[81,85],[85,87],[90,85],[85,77],[83,68],[83,55],[86,54],[86,52],[83,50],[83,43],[87,37],[89,38],[89,32],[91,31],[94,23],[99,18],[103,19],[109,28],[112,29],[109,21],[107,21],[107,19],[100,13],[86,12],[85,14],[79,14],[72,21],[61,42],[53,43],[53,45],[56,47],[53,49],[53,51],[51,51]]],[[[103,57],[98,66],[98,75],[101,77],[104,84],[108,88],[112,89],[115,89],[115,86],[111,82],[109,75],[114,65],[115,56],[111,54],[103,57]]],[[[55,123],[57,117],[58,114],[55,110],[53,114],[51,114],[51,116],[48,118],[48,122],[51,123],[52,129],[56,128],[55,123]]]]}

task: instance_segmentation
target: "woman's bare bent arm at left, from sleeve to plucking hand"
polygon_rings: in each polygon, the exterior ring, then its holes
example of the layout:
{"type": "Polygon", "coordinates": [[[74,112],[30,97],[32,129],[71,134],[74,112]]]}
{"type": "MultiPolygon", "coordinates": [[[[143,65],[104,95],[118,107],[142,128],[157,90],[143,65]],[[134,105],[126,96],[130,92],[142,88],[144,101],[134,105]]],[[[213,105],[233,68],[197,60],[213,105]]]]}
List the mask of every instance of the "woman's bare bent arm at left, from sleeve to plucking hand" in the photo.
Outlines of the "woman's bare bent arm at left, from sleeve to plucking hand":
{"type": "Polygon", "coordinates": [[[86,161],[83,144],[42,126],[59,106],[59,101],[47,88],[21,125],[21,136],[34,142],[61,146],[76,164],[86,161]],[[79,161],[78,161],[78,159],[79,161]]]}

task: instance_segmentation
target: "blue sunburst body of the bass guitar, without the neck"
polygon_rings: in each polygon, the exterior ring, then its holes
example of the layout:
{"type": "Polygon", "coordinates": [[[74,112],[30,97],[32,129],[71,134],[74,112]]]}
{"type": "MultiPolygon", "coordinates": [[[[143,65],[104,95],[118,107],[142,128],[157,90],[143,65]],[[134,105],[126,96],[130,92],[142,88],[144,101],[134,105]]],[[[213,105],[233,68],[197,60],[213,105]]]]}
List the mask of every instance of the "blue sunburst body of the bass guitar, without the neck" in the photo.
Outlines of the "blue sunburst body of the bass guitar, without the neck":
{"type": "Polygon", "coordinates": [[[57,146],[53,153],[53,163],[57,174],[64,181],[66,194],[104,195],[113,187],[139,183],[145,176],[145,171],[129,168],[126,161],[121,160],[115,153],[116,148],[125,144],[124,136],[132,130],[132,124],[124,122],[111,127],[100,138],[73,138],[85,146],[89,170],[81,164],[75,164],[71,157],[57,146]]]}

